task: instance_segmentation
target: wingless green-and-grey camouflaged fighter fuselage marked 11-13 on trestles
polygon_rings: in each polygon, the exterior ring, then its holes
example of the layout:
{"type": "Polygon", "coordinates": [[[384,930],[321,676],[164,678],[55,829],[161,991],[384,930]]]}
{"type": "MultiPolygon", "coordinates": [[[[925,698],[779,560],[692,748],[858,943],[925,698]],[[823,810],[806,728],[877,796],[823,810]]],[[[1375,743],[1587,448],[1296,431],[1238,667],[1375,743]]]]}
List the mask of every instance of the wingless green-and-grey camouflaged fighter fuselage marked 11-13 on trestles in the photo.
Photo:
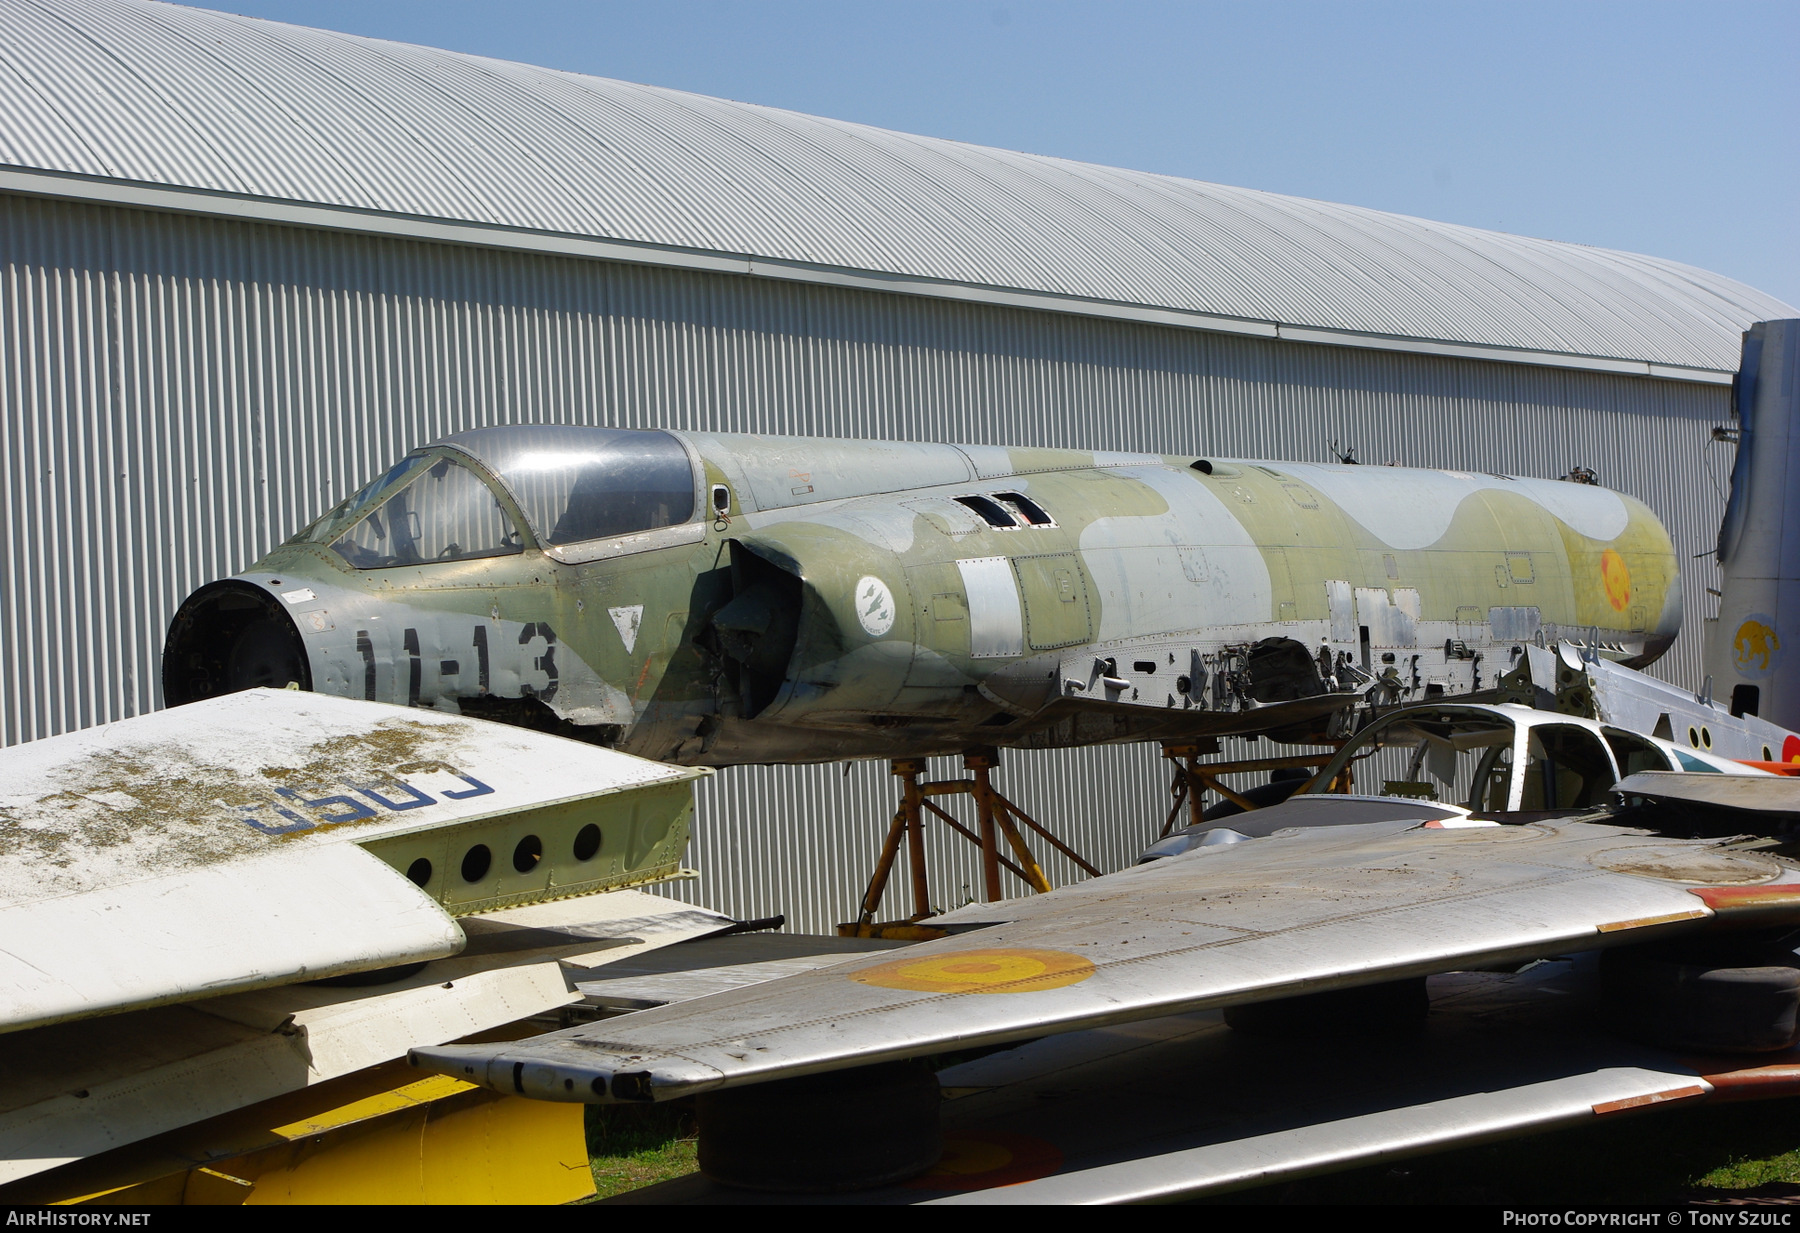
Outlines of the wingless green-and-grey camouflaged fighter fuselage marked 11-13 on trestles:
{"type": "Polygon", "coordinates": [[[1638,500],[1469,472],[518,425],[446,437],[182,605],[259,684],[680,763],[1224,733],[1679,626],[1638,500]]]}

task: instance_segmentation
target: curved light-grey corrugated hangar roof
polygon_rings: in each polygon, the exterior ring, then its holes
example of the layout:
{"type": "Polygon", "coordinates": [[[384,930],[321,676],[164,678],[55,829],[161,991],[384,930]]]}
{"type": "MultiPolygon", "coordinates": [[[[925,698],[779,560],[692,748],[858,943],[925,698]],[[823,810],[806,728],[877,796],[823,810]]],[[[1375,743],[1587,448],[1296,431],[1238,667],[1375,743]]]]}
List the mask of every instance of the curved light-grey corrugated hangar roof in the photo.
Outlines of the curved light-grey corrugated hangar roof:
{"type": "Polygon", "coordinates": [[[148,0],[0,2],[0,189],[1728,380],[1676,261],[148,0]]]}

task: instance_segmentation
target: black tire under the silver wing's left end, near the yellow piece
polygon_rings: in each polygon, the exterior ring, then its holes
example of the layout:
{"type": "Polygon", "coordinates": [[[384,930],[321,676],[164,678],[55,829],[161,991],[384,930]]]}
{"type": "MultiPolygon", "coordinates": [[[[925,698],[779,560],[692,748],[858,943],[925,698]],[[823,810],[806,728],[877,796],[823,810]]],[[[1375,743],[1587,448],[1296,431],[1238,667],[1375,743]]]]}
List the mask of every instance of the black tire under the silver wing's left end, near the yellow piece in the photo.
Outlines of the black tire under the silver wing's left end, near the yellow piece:
{"type": "Polygon", "coordinates": [[[704,1093],[700,1172],[722,1186],[841,1193],[938,1163],[938,1076],[914,1062],[704,1093]]]}

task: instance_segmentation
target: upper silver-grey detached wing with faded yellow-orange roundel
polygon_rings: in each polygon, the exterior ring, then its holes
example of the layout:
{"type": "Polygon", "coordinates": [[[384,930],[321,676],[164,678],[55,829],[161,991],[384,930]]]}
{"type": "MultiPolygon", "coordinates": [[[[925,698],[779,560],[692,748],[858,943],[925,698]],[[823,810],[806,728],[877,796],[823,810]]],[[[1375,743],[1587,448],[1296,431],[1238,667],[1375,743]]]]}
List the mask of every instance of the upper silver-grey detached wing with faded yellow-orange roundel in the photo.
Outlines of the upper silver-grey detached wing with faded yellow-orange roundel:
{"type": "Polygon", "coordinates": [[[1706,925],[1800,920],[1800,869],[1595,823],[1276,832],[934,920],[958,932],[416,1066],[544,1100],[664,1100],[1706,925]]]}

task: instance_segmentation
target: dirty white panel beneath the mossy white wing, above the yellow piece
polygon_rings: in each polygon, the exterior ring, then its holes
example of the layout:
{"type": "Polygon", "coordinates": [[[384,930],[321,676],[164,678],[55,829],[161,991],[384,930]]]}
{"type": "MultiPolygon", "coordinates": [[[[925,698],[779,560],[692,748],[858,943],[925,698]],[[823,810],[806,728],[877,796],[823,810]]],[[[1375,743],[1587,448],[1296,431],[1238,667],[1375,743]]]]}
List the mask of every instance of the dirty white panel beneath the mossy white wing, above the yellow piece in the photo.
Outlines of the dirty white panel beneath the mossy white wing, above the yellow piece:
{"type": "Polygon", "coordinates": [[[9,1035],[0,1183],[580,1001],[574,981],[729,918],[614,891],[482,922],[554,932],[374,988],[286,985],[9,1035]]]}

